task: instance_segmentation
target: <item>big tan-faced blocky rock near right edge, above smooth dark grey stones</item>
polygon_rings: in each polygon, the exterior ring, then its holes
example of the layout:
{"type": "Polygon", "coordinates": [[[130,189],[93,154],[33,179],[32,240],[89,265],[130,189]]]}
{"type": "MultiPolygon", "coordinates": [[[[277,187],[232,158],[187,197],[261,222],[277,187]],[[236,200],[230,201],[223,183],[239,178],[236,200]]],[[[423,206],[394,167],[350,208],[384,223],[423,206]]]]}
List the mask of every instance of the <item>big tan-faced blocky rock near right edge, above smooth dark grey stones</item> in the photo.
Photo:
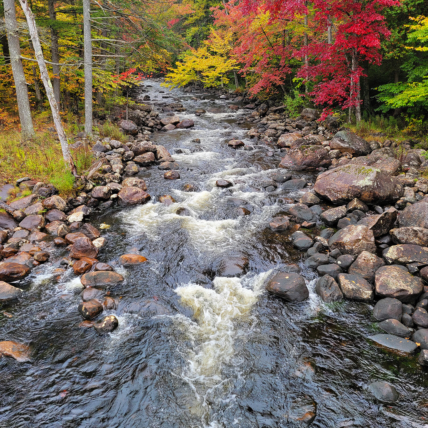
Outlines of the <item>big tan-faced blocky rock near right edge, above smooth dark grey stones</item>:
{"type": "Polygon", "coordinates": [[[398,266],[383,266],[375,274],[376,294],[393,297],[401,302],[412,302],[422,293],[423,283],[417,276],[398,266]]]}

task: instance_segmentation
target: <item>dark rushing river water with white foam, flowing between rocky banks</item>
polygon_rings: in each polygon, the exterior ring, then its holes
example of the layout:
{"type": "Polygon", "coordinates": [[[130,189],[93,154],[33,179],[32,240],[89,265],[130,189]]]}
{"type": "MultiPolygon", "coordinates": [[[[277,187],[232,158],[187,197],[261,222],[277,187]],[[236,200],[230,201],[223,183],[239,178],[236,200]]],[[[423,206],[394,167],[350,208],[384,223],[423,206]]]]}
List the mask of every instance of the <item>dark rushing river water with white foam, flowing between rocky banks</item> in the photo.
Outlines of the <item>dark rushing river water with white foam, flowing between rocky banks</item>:
{"type": "MultiPolygon", "coordinates": [[[[197,108],[226,105],[172,94],[195,121],[192,130],[158,133],[180,164],[181,179],[167,181],[156,167],[142,176],[152,203],[93,214],[94,226],[111,225],[99,259],[116,263],[140,252],[148,263],[116,270],[125,282],[111,288],[119,298],[119,328],[109,336],[78,327],[80,281],[53,265],[34,271],[21,285],[21,300],[2,309],[0,340],[30,343],[32,363],[0,359],[1,427],[291,427],[298,403],[316,404],[313,427],[425,427],[427,373],[416,357],[381,351],[366,336],[377,332],[372,307],[345,301],[326,305],[314,294],[315,274],[303,270],[310,297],[285,303],[264,291],[269,276],[300,262],[288,232],[267,229],[286,209],[282,190],[260,190],[279,155],[266,149],[229,149],[225,140],[244,138],[235,124],[244,114],[194,116],[197,108]],[[191,143],[200,138],[201,143],[191,143]],[[214,187],[218,178],[235,183],[214,187]],[[195,192],[183,192],[192,183],[195,192]],[[157,201],[163,194],[176,203],[157,201]],[[228,198],[247,201],[251,214],[238,217],[228,198]],[[187,212],[178,215],[179,208],[187,212]],[[216,276],[233,261],[241,278],[216,276]],[[398,389],[394,405],[366,391],[386,380],[398,389]],[[289,413],[290,412],[290,413],[289,413]]],[[[161,89],[165,90],[165,89],[161,89]]],[[[167,91],[166,91],[167,92],[167,91]]],[[[201,95],[201,94],[199,94],[201,95]]],[[[295,174],[299,178],[301,174],[295,174]]],[[[295,195],[296,196],[296,195],[295,195]]],[[[312,404],[314,405],[314,404],[312,404]]],[[[305,413],[305,411],[303,411],[305,413]]]]}

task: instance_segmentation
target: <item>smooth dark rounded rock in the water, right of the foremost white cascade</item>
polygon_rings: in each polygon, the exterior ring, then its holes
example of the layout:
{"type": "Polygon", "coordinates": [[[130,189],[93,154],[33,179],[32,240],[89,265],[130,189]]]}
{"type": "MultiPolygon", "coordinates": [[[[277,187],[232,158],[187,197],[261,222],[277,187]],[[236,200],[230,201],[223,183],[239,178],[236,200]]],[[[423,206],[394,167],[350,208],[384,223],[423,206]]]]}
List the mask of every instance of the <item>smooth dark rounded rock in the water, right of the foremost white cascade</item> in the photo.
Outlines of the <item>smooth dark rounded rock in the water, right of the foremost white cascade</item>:
{"type": "Polygon", "coordinates": [[[309,297],[305,280],[297,273],[277,273],[266,285],[266,290],[289,302],[302,302],[309,297]]]}

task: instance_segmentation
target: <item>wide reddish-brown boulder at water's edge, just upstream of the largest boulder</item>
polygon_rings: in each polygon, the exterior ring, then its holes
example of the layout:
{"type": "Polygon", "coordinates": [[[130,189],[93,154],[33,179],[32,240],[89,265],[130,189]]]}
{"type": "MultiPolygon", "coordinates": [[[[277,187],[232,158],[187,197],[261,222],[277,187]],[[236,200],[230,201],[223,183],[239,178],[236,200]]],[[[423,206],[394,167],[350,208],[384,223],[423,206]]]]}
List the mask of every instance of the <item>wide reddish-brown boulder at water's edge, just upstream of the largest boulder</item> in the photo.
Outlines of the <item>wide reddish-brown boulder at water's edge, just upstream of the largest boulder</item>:
{"type": "Polygon", "coordinates": [[[290,149],[282,158],[279,166],[294,171],[302,169],[327,167],[331,164],[329,152],[323,146],[301,146],[290,149]]]}

